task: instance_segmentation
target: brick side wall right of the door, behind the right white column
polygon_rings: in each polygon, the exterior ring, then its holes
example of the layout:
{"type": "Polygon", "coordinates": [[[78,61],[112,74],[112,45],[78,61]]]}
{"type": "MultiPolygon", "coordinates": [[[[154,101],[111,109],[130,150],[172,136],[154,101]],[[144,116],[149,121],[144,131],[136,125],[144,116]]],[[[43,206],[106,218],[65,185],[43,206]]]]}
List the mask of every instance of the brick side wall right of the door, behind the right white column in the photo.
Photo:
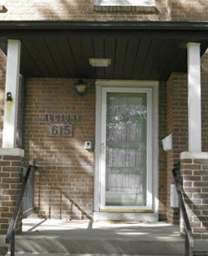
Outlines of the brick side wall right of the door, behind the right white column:
{"type": "MultiPolygon", "coordinates": [[[[208,150],[207,53],[202,57],[202,151],[208,150]]],[[[171,170],[179,163],[180,153],[187,151],[187,75],[173,73],[167,82],[167,135],[173,134],[173,150],[167,152],[167,220],[179,220],[177,209],[170,207],[171,170]]]]}

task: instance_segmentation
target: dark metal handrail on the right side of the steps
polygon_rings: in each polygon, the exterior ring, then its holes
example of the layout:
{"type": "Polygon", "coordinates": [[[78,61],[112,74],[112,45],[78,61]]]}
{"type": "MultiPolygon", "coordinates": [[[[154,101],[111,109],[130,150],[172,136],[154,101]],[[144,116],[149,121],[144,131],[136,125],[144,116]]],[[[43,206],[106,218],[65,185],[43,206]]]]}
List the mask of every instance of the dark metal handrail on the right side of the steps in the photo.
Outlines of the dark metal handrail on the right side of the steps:
{"type": "Polygon", "coordinates": [[[181,191],[181,183],[179,177],[177,175],[177,171],[179,167],[176,167],[172,170],[172,175],[174,178],[174,184],[176,186],[177,198],[179,199],[179,208],[181,209],[182,218],[184,220],[184,227],[186,233],[186,241],[185,241],[185,255],[189,256],[193,253],[193,248],[195,247],[194,237],[192,235],[191,225],[189,223],[189,218],[187,216],[186,207],[184,204],[184,198],[182,196],[181,191]]]}

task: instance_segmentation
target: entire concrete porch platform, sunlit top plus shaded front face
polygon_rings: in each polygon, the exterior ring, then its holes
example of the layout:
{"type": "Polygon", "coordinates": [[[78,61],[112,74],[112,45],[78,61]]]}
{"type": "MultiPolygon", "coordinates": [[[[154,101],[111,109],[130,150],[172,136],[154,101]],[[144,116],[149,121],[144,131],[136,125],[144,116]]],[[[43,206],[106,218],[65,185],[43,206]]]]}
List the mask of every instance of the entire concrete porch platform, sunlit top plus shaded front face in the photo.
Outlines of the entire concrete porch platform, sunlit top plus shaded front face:
{"type": "MultiPolygon", "coordinates": [[[[165,222],[24,220],[16,252],[46,255],[184,255],[179,228],[165,222]],[[43,253],[43,254],[42,254],[43,253]]],[[[30,256],[30,255],[29,255],[30,256]]]]}

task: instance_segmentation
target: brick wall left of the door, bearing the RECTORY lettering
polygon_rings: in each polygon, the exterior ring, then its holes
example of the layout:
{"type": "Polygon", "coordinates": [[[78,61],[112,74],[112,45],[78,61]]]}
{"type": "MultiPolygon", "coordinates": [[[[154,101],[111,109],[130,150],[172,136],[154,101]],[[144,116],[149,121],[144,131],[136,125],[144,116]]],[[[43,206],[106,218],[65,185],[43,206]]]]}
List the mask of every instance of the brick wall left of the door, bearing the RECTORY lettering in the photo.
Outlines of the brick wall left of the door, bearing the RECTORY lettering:
{"type": "MultiPolygon", "coordinates": [[[[24,111],[26,161],[36,160],[35,206],[47,218],[80,219],[92,215],[94,143],[94,84],[86,95],[77,95],[70,79],[27,79],[24,111]],[[72,137],[49,136],[42,113],[79,114],[72,122],[72,137]]],[[[67,122],[55,122],[67,123],[67,122]]]]}

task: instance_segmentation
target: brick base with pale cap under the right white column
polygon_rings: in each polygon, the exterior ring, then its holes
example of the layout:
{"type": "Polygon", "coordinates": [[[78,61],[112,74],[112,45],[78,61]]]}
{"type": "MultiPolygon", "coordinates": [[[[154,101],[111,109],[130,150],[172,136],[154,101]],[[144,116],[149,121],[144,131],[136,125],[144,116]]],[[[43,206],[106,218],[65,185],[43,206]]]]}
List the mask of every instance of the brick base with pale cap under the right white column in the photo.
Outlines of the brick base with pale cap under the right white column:
{"type": "MultiPolygon", "coordinates": [[[[208,153],[181,153],[184,200],[194,238],[208,238],[208,153]]],[[[181,232],[183,225],[181,221],[181,232]]]]}

